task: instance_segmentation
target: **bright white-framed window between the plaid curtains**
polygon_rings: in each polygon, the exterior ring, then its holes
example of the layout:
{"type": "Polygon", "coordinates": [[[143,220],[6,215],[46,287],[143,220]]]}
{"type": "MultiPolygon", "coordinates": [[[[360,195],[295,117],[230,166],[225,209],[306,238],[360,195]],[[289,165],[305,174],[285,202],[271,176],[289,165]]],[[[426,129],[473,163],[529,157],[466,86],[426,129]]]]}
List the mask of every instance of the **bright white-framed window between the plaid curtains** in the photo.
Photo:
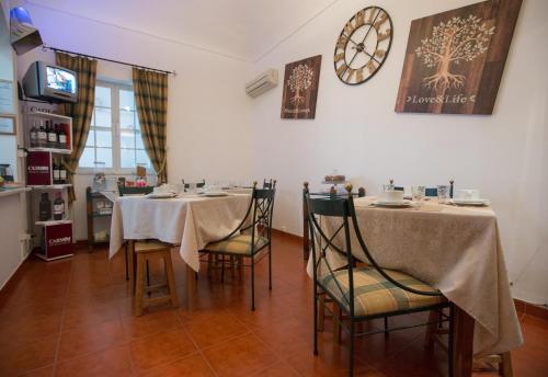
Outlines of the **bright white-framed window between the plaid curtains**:
{"type": "Polygon", "coordinates": [[[95,107],[88,141],[80,158],[80,168],[96,163],[112,172],[129,172],[136,165],[152,169],[140,134],[133,88],[99,81],[95,87],[95,107]]]}

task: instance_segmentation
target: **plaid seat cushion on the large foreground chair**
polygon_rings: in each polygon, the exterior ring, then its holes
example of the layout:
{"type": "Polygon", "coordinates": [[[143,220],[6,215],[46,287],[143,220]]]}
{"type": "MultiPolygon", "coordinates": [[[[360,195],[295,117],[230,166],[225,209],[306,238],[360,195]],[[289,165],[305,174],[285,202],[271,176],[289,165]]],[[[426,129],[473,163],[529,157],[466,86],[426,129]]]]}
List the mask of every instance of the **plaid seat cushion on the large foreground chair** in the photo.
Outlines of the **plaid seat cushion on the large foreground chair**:
{"type": "MultiPolygon", "coordinates": [[[[437,292],[430,285],[399,271],[385,270],[396,282],[423,292],[437,292]]],[[[323,289],[328,290],[349,310],[349,272],[336,271],[319,279],[323,289]],[[339,282],[339,289],[335,279],[339,282]]],[[[400,310],[418,309],[434,306],[445,301],[443,296],[424,296],[401,289],[387,281],[374,267],[354,269],[354,313],[357,317],[391,313],[400,310]]]]}

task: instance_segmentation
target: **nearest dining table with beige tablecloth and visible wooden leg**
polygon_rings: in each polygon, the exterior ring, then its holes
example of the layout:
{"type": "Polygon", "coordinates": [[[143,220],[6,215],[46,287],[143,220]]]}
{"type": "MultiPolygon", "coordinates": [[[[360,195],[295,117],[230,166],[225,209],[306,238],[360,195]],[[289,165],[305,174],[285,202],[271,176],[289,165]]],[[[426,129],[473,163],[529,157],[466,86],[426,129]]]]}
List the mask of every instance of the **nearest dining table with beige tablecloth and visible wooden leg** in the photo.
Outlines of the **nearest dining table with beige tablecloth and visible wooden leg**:
{"type": "MultiPolygon", "coordinates": [[[[372,256],[439,289],[455,305],[454,376],[470,376],[473,357],[509,355],[523,335],[491,206],[457,206],[436,198],[389,208],[375,196],[354,199],[356,220],[372,256]]],[[[330,235],[341,219],[322,219],[330,235]]],[[[335,242],[343,242],[342,235],[335,242]]],[[[341,243],[342,244],[342,243],[341,243]]],[[[351,231],[354,256],[367,263],[351,231]]],[[[346,258],[327,251],[332,269],[346,258]]],[[[312,258],[307,272],[312,276],[312,258]]]]}

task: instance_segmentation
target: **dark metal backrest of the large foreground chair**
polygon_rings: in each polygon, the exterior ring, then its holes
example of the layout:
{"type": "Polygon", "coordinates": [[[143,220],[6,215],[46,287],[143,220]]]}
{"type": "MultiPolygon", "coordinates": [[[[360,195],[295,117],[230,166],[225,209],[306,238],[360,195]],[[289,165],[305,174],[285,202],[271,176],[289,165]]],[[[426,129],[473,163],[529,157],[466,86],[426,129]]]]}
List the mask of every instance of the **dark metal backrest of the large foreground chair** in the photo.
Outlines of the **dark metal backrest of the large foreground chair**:
{"type": "Polygon", "coordinates": [[[341,296],[346,302],[347,307],[351,310],[351,313],[354,313],[354,300],[350,299],[354,297],[354,278],[353,278],[353,270],[355,266],[355,256],[356,252],[352,251],[351,243],[351,227],[353,228],[353,232],[358,241],[359,248],[363,252],[363,258],[359,260],[363,262],[368,262],[383,277],[385,277],[388,282],[393,284],[395,286],[404,289],[407,292],[423,295],[423,296],[439,296],[442,295],[439,292],[425,292],[425,290],[416,290],[411,287],[408,287],[393,278],[390,277],[375,261],[375,259],[369,253],[367,245],[364,242],[362,233],[359,231],[359,227],[357,225],[356,219],[356,210],[354,207],[354,198],[353,195],[347,195],[346,197],[342,196],[326,196],[326,195],[317,195],[317,194],[305,194],[307,203],[308,203],[308,215],[309,215],[309,230],[310,230],[310,243],[312,247],[312,261],[313,261],[313,278],[315,284],[318,281],[319,267],[324,266],[327,269],[327,274],[332,275],[333,282],[335,282],[338,288],[341,290],[341,296]],[[326,233],[324,228],[320,226],[320,217],[334,217],[339,218],[339,226],[335,225],[334,229],[330,235],[326,233]],[[335,239],[343,240],[341,242],[335,242],[335,239]],[[346,266],[349,273],[349,289],[350,292],[346,294],[344,289],[339,285],[338,279],[334,276],[334,269],[329,263],[329,259],[327,258],[327,252],[336,252],[346,258],[346,266]]]}

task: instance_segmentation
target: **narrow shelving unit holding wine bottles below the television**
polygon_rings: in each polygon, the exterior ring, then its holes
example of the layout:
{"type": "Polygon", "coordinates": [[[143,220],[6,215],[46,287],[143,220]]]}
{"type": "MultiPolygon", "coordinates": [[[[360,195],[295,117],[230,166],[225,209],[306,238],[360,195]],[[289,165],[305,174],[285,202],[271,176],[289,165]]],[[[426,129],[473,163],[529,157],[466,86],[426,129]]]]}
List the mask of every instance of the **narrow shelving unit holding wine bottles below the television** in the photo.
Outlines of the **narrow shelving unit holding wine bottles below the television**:
{"type": "Polygon", "coordinates": [[[73,255],[72,220],[68,208],[69,183],[55,183],[53,176],[54,159],[72,152],[72,118],[43,111],[27,111],[24,113],[24,140],[28,153],[26,156],[26,182],[31,188],[31,224],[33,229],[34,253],[45,260],[54,261],[73,255]],[[30,129],[35,121],[49,119],[58,127],[62,127],[67,142],[66,148],[31,147],[30,129]],[[60,193],[65,205],[65,215],[61,220],[52,218],[39,219],[39,202],[43,194],[47,194],[52,206],[54,197],[60,193]]]}

